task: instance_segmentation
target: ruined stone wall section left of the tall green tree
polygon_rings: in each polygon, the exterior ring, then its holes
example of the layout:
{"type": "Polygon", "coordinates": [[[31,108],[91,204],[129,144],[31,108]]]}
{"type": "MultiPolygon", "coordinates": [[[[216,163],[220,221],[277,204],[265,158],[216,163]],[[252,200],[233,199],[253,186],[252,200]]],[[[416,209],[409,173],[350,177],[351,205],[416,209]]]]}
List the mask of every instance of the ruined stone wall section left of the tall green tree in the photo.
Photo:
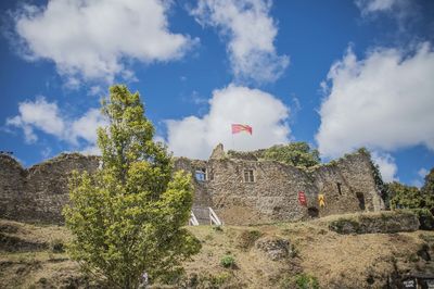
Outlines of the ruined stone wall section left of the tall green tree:
{"type": "Polygon", "coordinates": [[[67,178],[74,169],[93,172],[97,156],[61,154],[25,169],[0,154],[0,217],[60,224],[68,201],[67,178]]]}

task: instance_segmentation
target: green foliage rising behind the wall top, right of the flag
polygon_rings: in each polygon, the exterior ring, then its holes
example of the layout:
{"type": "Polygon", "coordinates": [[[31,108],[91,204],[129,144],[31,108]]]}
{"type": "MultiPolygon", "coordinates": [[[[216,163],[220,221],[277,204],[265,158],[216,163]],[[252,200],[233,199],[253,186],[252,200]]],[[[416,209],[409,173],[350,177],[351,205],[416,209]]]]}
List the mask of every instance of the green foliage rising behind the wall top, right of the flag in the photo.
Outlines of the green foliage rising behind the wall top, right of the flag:
{"type": "Polygon", "coordinates": [[[265,150],[264,159],[298,167],[310,167],[321,161],[318,150],[310,149],[309,144],[304,141],[272,146],[265,150]]]}

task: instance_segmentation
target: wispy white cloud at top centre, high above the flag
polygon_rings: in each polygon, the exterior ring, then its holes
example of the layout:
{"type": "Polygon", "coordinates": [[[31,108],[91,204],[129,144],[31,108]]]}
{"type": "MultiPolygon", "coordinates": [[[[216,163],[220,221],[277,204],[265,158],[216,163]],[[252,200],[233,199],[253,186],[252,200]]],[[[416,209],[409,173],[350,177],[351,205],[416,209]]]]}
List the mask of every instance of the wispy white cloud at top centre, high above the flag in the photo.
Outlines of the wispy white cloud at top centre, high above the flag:
{"type": "Polygon", "coordinates": [[[216,27],[229,39],[227,49],[239,80],[275,81],[290,63],[286,55],[277,54],[278,28],[270,7],[266,0],[200,0],[191,11],[201,25],[216,27]]]}

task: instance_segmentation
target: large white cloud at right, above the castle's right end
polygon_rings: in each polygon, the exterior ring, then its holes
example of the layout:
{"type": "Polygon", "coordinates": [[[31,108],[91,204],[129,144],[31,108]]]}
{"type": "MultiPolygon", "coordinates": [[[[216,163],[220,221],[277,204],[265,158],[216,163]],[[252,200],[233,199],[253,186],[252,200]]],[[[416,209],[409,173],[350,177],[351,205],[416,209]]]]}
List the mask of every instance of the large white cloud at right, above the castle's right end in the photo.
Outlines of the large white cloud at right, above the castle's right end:
{"type": "Polygon", "coordinates": [[[328,95],[316,135],[323,155],[359,147],[393,151],[424,144],[434,150],[434,52],[372,50],[357,60],[352,49],[328,74],[328,95]]]}

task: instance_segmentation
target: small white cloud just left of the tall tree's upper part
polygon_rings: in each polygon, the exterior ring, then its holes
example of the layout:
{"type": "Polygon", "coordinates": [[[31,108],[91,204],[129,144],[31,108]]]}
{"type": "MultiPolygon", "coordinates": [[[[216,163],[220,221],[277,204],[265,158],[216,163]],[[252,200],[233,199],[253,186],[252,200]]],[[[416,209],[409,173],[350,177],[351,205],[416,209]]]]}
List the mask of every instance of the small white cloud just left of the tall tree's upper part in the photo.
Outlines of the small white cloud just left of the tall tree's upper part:
{"type": "Polygon", "coordinates": [[[90,109],[79,118],[68,118],[55,102],[50,103],[43,97],[18,103],[18,115],[7,120],[7,125],[22,128],[26,142],[37,141],[36,131],[39,130],[75,147],[79,146],[80,140],[86,146],[93,146],[97,128],[106,125],[98,109],[90,109]]]}

